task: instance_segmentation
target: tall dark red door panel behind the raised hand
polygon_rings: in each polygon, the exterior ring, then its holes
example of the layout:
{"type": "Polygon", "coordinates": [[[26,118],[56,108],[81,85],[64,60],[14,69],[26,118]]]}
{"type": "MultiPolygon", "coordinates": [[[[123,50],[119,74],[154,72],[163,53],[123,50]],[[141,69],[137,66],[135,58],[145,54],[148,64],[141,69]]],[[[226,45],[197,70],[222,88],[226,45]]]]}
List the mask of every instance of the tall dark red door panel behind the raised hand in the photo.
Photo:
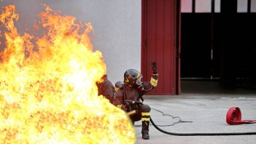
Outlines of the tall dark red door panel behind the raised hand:
{"type": "Polygon", "coordinates": [[[141,72],[152,76],[158,64],[158,86],[149,94],[179,94],[179,0],[142,0],[141,72]],[[177,24],[178,23],[178,24],[177,24]],[[178,36],[177,36],[178,35],[178,36]]]}

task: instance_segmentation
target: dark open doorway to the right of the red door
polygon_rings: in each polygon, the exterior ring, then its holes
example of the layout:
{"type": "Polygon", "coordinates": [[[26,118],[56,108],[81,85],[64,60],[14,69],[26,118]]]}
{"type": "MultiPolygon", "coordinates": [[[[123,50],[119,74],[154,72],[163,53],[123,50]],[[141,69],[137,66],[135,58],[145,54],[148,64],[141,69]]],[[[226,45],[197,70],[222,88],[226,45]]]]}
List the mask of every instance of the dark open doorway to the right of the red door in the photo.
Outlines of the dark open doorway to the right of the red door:
{"type": "Polygon", "coordinates": [[[181,91],[191,80],[224,89],[256,89],[256,41],[251,36],[256,13],[251,1],[243,13],[237,12],[237,1],[221,1],[216,12],[212,0],[210,12],[199,13],[195,2],[191,12],[181,13],[181,91]]]}

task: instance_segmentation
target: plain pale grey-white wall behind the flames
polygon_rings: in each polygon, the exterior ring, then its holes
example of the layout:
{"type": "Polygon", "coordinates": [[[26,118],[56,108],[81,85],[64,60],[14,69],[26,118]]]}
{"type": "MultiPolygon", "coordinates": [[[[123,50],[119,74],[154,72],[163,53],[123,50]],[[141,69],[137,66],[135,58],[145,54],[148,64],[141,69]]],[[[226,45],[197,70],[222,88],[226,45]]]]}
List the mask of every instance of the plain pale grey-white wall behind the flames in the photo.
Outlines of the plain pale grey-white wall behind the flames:
{"type": "Polygon", "coordinates": [[[123,80],[129,68],[140,71],[141,66],[141,1],[139,0],[3,0],[4,5],[15,4],[20,19],[20,33],[32,27],[36,14],[44,11],[42,3],[51,9],[72,15],[78,21],[91,22],[94,50],[103,54],[108,79],[115,84],[123,80]]]}

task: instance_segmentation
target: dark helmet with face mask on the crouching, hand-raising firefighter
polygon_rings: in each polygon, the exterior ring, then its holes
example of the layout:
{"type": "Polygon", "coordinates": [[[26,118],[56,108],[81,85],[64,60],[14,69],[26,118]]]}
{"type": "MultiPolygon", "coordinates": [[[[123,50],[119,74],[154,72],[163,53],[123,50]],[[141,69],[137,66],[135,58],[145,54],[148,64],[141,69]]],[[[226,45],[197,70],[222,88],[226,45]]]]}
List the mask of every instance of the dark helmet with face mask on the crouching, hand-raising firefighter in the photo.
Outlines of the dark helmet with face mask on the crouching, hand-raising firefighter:
{"type": "Polygon", "coordinates": [[[128,86],[140,86],[142,77],[137,70],[129,69],[125,71],[123,82],[128,86]]]}

